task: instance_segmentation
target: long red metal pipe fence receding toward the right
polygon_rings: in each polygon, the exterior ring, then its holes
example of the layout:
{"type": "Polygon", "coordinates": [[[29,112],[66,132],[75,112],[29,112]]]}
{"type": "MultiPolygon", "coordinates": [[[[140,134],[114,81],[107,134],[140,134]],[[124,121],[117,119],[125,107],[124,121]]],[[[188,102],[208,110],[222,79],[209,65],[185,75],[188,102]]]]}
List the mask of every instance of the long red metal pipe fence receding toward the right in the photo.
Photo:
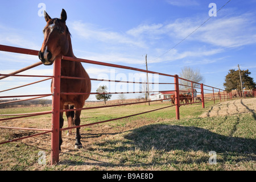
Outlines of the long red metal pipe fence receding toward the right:
{"type": "MultiPolygon", "coordinates": [[[[35,51],[35,50],[23,49],[23,48],[17,48],[17,47],[10,47],[10,46],[3,46],[3,45],[0,45],[0,51],[15,52],[15,53],[22,53],[22,54],[27,54],[27,55],[35,55],[35,56],[38,55],[38,51],[35,51]]],[[[106,66],[106,67],[121,68],[121,69],[130,70],[130,71],[136,71],[136,72],[151,73],[151,74],[156,74],[156,75],[159,75],[159,76],[167,77],[168,80],[170,80],[170,78],[172,78],[172,79],[174,79],[174,82],[172,82],[172,81],[168,81],[168,82],[123,81],[123,80],[108,80],[108,79],[98,79],[98,78],[90,78],[90,80],[92,80],[92,81],[106,81],[106,82],[122,82],[122,83],[126,83],[126,84],[174,85],[174,90],[163,90],[163,91],[173,92],[175,94],[175,97],[172,98],[172,100],[175,100],[175,104],[174,105],[170,104],[168,106],[164,106],[164,107],[161,107],[159,109],[145,111],[143,113],[127,115],[125,117],[119,117],[119,118],[109,119],[109,120],[106,120],[106,121],[94,122],[94,123],[89,123],[89,124],[86,124],[86,125],[80,125],[80,126],[68,127],[68,128],[65,128],[65,129],[59,129],[59,116],[60,116],[59,113],[60,112],[74,111],[74,110],[86,110],[86,109],[97,109],[97,108],[102,108],[102,107],[123,106],[123,105],[131,105],[131,104],[142,104],[142,103],[147,103],[147,102],[150,103],[150,102],[156,102],[156,101],[171,101],[171,98],[168,96],[167,98],[161,98],[161,99],[158,99],[158,100],[139,101],[139,102],[136,102],[136,103],[125,103],[125,104],[118,104],[118,105],[105,105],[105,106],[94,106],[94,107],[84,107],[84,108],[78,108],[78,109],[60,110],[60,95],[61,94],[84,94],[84,93],[60,93],[60,79],[61,78],[84,79],[84,78],[77,78],[77,77],[61,76],[61,74],[60,74],[61,60],[60,59],[56,59],[55,63],[53,64],[53,76],[16,75],[17,73],[21,73],[23,71],[26,71],[28,69],[37,67],[38,65],[41,65],[42,64],[41,62],[35,63],[33,65],[30,65],[29,67],[20,69],[19,71],[16,71],[16,72],[13,72],[13,73],[10,73],[10,74],[0,74],[0,76],[1,76],[0,80],[4,79],[6,77],[9,77],[9,76],[47,77],[47,78],[44,78],[43,80],[32,82],[31,84],[26,84],[26,85],[18,86],[18,87],[15,87],[15,88],[6,89],[6,90],[0,90],[0,93],[1,92],[6,92],[6,91],[9,91],[9,90],[12,90],[12,89],[16,89],[16,88],[21,88],[21,87],[27,86],[27,85],[37,84],[38,82],[46,81],[46,80],[49,80],[49,79],[53,80],[53,85],[54,85],[53,88],[54,89],[53,89],[52,94],[36,94],[36,95],[23,95],[23,96],[0,96],[0,99],[2,99],[2,98],[15,98],[15,97],[19,97],[19,98],[20,97],[32,97],[32,98],[28,98],[28,99],[24,99],[24,100],[18,100],[18,101],[1,102],[0,105],[1,104],[8,104],[10,102],[19,102],[19,101],[26,101],[26,100],[36,99],[36,98],[52,96],[52,110],[51,111],[43,111],[43,112],[38,112],[38,113],[2,114],[2,115],[0,115],[0,117],[10,117],[10,116],[12,116],[11,118],[2,118],[2,119],[0,119],[0,122],[1,122],[1,121],[10,120],[10,119],[32,117],[32,116],[35,116],[35,115],[52,114],[52,128],[51,129],[35,129],[35,128],[32,129],[32,128],[22,128],[22,127],[0,126],[0,128],[2,128],[2,129],[19,129],[19,130],[43,131],[43,133],[30,135],[28,137],[35,137],[37,135],[51,133],[51,164],[55,164],[55,163],[59,162],[59,132],[60,132],[60,130],[62,131],[62,130],[74,129],[76,127],[96,125],[98,123],[104,123],[104,122],[114,121],[114,120],[118,120],[118,119],[133,117],[135,115],[145,114],[145,113],[149,113],[149,112],[160,110],[160,109],[166,109],[166,108],[172,107],[172,106],[175,106],[175,108],[176,108],[176,119],[180,119],[179,107],[181,105],[201,103],[202,107],[204,107],[205,101],[213,100],[214,103],[215,103],[216,100],[226,101],[228,99],[232,99],[232,97],[234,96],[234,93],[233,94],[232,93],[228,94],[222,89],[214,88],[212,86],[208,86],[208,85],[204,85],[204,84],[199,84],[199,83],[196,83],[196,82],[193,82],[193,81],[190,81],[190,80],[185,80],[184,78],[180,78],[177,75],[168,75],[168,74],[159,73],[159,72],[146,71],[144,69],[126,67],[126,66],[123,66],[123,65],[102,63],[102,62],[99,62],[99,61],[92,61],[92,60],[86,60],[86,59],[76,59],[76,58],[67,57],[67,56],[63,56],[62,59],[63,60],[69,60],[69,61],[80,61],[81,63],[96,64],[96,65],[102,65],[102,66],[106,66]],[[180,82],[185,81],[189,84],[179,84],[179,81],[180,82]],[[198,96],[197,96],[197,92],[194,91],[196,89],[200,90],[200,92],[199,92],[200,94],[198,94],[198,96]],[[187,95],[185,97],[181,97],[180,94],[183,94],[183,95],[187,94],[187,95]],[[188,102],[188,100],[187,100],[189,98],[189,96],[192,97],[191,102],[188,102]],[[181,104],[180,101],[183,101],[183,104],[181,104]]],[[[150,90],[135,91],[134,90],[133,92],[128,92],[128,93],[156,93],[156,91],[150,91],[150,90]]],[[[157,91],[157,93],[158,93],[158,91],[157,91]]],[[[90,94],[98,94],[98,93],[92,92],[90,94]]],[[[111,94],[120,94],[120,93],[119,92],[112,92],[111,94]]],[[[28,138],[28,137],[9,140],[9,141],[6,141],[6,142],[2,142],[0,144],[14,142],[14,141],[21,140],[21,139],[28,138]]]]}

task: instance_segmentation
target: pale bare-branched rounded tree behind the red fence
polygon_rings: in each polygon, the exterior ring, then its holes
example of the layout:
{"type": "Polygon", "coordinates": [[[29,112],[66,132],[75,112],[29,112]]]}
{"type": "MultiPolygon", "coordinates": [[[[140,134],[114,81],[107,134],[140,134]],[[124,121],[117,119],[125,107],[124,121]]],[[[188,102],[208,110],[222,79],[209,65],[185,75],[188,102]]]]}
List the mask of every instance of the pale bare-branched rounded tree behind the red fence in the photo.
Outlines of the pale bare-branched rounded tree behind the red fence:
{"type": "MultiPolygon", "coordinates": [[[[181,69],[181,73],[179,77],[184,78],[186,80],[194,81],[197,83],[203,83],[204,82],[204,76],[201,75],[199,69],[192,69],[191,67],[184,67],[181,69]]],[[[180,89],[191,89],[191,82],[185,81],[185,80],[179,80],[179,84],[181,84],[180,89]]],[[[199,86],[198,84],[192,83],[193,87],[199,86]]]]}

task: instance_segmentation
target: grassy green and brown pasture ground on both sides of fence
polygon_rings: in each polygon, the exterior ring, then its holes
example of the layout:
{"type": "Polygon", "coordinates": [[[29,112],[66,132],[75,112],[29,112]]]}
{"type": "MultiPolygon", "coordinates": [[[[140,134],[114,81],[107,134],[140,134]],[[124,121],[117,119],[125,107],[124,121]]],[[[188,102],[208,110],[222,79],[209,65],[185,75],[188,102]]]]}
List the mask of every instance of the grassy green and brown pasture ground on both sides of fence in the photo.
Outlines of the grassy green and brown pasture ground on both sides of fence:
{"type": "MultiPolygon", "coordinates": [[[[170,105],[129,105],[83,110],[81,125],[170,105]]],[[[48,111],[51,107],[1,109],[1,114],[48,111]]],[[[0,170],[255,170],[256,98],[175,107],[81,128],[80,150],[64,131],[60,162],[50,166],[51,134],[0,146],[0,170]],[[46,165],[38,152],[46,152],[46,165]],[[216,151],[216,164],[209,152],[216,151]]],[[[64,117],[64,127],[67,118],[64,117]]],[[[1,122],[3,126],[51,128],[51,114],[1,122]]],[[[0,142],[36,131],[0,129],[0,142]]]]}

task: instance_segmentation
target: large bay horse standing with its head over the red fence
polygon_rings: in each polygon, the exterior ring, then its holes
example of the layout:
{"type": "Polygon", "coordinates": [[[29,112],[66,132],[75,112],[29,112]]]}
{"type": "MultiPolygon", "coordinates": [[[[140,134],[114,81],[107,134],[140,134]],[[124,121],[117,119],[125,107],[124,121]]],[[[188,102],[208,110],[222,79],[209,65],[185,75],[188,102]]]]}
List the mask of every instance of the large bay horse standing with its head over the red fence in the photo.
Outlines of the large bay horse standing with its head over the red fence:
{"type": "MultiPolygon", "coordinates": [[[[55,59],[61,59],[62,56],[75,57],[72,50],[71,34],[66,25],[67,13],[64,9],[61,11],[60,18],[51,18],[44,11],[44,19],[47,24],[43,29],[44,41],[42,48],[38,52],[38,57],[44,65],[52,65],[55,59]]],[[[82,108],[85,100],[90,95],[91,82],[88,73],[77,61],[61,60],[61,76],[81,77],[85,79],[70,80],[68,78],[60,79],[60,93],[85,93],[78,95],[60,94],[60,110],[82,108]]],[[[51,84],[51,92],[53,91],[51,84]]],[[[65,113],[68,118],[68,127],[80,125],[81,110],[65,113]],[[71,125],[72,124],[72,125],[71,125]]],[[[63,127],[63,113],[60,113],[60,129],[63,127]]],[[[63,143],[60,131],[59,147],[63,143]]],[[[75,148],[82,148],[80,142],[80,128],[76,128],[75,148]]],[[[61,150],[61,147],[59,148],[61,150]]]]}

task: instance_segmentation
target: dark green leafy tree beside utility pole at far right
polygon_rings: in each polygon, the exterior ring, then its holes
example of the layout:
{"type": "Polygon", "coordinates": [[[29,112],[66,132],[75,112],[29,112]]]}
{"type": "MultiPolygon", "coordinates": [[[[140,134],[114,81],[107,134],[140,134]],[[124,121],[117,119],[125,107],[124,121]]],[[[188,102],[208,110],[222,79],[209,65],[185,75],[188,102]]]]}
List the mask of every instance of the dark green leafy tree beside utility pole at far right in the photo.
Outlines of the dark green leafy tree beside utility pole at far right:
{"type": "MultiPolygon", "coordinates": [[[[243,88],[247,90],[255,89],[256,84],[253,81],[253,78],[249,75],[251,72],[249,70],[241,70],[241,77],[242,77],[242,85],[243,88]]],[[[239,71],[235,71],[235,69],[229,69],[228,75],[225,77],[224,87],[227,92],[231,92],[232,90],[237,90],[239,96],[242,96],[241,90],[241,81],[239,71]]]]}

